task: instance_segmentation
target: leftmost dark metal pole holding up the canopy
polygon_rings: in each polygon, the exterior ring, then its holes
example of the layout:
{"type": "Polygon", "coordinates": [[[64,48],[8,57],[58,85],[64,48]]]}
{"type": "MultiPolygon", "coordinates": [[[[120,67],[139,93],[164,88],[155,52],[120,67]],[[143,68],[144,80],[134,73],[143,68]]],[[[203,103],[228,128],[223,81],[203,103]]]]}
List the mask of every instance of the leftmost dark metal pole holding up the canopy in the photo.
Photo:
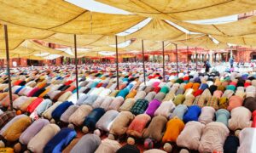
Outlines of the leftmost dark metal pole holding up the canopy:
{"type": "Polygon", "coordinates": [[[13,110],[13,94],[12,94],[12,85],[11,85],[11,77],[9,71],[9,40],[8,40],[8,30],[7,26],[4,25],[4,38],[5,38],[5,50],[6,50],[6,60],[7,60],[7,74],[8,74],[8,84],[9,84],[9,101],[10,101],[10,109],[13,110]]]}

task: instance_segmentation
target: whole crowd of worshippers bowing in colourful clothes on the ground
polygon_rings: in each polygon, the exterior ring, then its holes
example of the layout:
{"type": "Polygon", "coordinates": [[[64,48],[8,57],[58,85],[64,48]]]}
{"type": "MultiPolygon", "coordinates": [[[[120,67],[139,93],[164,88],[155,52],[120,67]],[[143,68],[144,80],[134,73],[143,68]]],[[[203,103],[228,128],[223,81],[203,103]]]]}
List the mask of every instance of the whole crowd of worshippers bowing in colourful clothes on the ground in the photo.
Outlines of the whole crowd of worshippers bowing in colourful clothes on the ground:
{"type": "Polygon", "coordinates": [[[13,102],[3,72],[0,152],[256,151],[255,74],[114,70],[80,65],[78,88],[73,66],[12,70],[13,102]]]}

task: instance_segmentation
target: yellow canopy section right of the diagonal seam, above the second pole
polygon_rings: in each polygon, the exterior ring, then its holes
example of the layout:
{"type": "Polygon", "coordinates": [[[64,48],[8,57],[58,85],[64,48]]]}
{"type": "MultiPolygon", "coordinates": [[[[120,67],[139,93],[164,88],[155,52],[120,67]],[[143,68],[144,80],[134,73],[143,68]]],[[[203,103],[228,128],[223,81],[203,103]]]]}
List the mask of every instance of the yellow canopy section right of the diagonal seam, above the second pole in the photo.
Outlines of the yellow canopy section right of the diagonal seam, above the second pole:
{"type": "Polygon", "coordinates": [[[50,29],[61,33],[111,35],[137,25],[145,18],[138,15],[101,14],[86,12],[67,24],[50,29]]]}

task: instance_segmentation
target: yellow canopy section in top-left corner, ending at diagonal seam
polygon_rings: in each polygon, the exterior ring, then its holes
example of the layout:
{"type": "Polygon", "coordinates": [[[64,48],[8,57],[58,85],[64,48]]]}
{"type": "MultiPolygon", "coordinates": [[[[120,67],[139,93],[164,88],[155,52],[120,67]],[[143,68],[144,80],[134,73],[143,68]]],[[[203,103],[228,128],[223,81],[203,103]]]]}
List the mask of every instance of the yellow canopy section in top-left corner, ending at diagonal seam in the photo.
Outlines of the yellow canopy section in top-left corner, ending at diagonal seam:
{"type": "Polygon", "coordinates": [[[86,12],[83,8],[56,1],[30,1],[30,0],[1,0],[0,19],[15,25],[51,29],[67,23],[86,12]]]}

